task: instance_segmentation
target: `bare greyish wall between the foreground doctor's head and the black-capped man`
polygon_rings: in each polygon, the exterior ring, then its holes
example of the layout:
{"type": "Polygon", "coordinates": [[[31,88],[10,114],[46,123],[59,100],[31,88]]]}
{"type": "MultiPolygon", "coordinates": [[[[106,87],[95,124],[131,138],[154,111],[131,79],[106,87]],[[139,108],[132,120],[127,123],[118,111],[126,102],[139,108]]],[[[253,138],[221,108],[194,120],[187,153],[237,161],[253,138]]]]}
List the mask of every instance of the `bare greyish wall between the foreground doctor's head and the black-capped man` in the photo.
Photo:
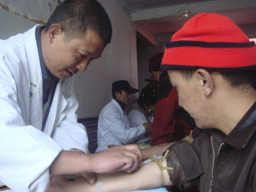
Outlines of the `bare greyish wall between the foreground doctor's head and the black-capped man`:
{"type": "MultiPolygon", "coordinates": [[[[136,33],[115,0],[99,2],[109,14],[113,35],[102,56],[91,62],[86,72],[79,72],[75,76],[74,89],[79,101],[79,118],[99,115],[112,99],[112,82],[127,80],[132,87],[138,88],[136,33]]],[[[135,97],[133,96],[133,102],[135,97]]],[[[127,107],[127,112],[130,107],[131,105],[127,107]]]]}

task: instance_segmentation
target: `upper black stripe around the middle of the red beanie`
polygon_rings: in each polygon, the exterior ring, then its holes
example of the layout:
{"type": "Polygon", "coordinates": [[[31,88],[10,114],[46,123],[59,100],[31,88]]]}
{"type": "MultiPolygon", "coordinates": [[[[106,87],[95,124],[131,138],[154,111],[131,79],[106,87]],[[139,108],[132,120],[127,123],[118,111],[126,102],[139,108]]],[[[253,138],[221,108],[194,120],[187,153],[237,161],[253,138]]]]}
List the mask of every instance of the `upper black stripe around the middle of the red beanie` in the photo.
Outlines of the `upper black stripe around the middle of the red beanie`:
{"type": "Polygon", "coordinates": [[[234,43],[234,42],[205,42],[205,41],[166,41],[166,48],[174,47],[203,47],[203,48],[243,48],[254,47],[255,42],[234,43]]]}

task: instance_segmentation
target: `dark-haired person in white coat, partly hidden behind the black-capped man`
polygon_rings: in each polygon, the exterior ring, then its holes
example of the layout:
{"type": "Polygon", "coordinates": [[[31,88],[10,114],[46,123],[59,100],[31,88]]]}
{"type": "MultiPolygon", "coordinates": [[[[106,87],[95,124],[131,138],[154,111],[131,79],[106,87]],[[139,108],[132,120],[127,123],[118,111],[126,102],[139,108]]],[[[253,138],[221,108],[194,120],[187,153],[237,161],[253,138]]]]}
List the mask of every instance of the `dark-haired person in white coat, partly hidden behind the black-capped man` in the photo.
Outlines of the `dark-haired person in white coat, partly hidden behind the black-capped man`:
{"type": "Polygon", "coordinates": [[[142,94],[138,97],[138,102],[133,104],[133,109],[127,115],[129,125],[138,127],[147,121],[152,122],[152,115],[157,104],[157,98],[153,95],[142,94]]]}

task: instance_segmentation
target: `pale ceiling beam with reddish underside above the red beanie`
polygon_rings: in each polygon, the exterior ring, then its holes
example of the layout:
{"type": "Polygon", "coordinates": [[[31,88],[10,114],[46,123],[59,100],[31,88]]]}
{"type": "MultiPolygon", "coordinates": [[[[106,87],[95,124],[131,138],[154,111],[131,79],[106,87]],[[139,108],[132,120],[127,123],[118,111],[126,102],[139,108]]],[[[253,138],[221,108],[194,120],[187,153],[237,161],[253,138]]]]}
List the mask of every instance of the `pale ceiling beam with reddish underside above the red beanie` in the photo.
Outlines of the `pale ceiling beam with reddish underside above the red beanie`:
{"type": "Polygon", "coordinates": [[[215,0],[134,11],[130,12],[130,19],[134,28],[139,32],[137,39],[143,39],[143,42],[146,42],[145,46],[151,47],[156,45],[156,35],[159,34],[160,27],[165,27],[164,30],[160,30],[161,32],[176,32],[192,16],[203,12],[214,12],[230,18],[235,13],[238,16],[232,18],[237,25],[256,24],[256,0],[215,0]],[[188,10],[188,17],[183,17],[183,14],[178,13],[178,9],[188,10]],[[247,18],[248,15],[250,17],[247,18]],[[170,22],[176,23],[175,27],[170,22]]]}

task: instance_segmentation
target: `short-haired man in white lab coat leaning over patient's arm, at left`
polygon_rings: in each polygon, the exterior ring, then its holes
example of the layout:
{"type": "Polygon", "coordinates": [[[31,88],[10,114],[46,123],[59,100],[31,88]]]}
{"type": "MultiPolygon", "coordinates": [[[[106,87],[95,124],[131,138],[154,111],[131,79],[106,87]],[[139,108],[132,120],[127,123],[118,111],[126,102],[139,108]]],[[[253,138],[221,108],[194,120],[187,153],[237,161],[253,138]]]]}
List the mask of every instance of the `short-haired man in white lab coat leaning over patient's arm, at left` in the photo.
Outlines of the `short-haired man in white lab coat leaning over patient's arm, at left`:
{"type": "Polygon", "coordinates": [[[0,40],[1,183],[41,192],[50,175],[81,173],[92,184],[90,172],[137,168],[142,154],[135,145],[86,154],[86,129],[77,123],[72,76],[101,56],[111,36],[96,0],[66,0],[46,26],[0,40]]]}

